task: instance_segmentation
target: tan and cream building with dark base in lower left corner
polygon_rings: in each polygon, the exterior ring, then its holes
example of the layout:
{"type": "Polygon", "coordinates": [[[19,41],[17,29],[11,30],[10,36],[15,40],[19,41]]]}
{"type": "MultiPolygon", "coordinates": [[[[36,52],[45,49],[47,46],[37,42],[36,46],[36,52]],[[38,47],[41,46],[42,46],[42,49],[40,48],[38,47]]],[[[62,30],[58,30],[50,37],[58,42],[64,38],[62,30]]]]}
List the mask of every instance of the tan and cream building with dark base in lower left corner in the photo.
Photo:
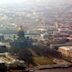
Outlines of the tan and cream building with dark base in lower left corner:
{"type": "Polygon", "coordinates": [[[16,59],[10,53],[0,53],[0,72],[11,72],[10,70],[20,70],[26,72],[26,64],[24,61],[16,59]]]}

